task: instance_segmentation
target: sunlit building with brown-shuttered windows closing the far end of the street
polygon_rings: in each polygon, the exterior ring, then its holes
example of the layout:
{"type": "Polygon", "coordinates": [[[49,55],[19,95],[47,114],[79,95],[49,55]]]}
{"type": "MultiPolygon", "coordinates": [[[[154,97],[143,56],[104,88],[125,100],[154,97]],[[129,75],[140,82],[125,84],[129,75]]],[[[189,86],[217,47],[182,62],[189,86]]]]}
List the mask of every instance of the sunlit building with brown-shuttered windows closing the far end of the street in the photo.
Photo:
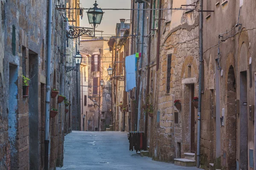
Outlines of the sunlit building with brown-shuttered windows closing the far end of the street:
{"type": "Polygon", "coordinates": [[[80,40],[80,51],[82,54],[89,54],[87,57],[88,66],[88,87],[87,87],[87,112],[85,122],[88,131],[105,131],[111,123],[111,89],[103,88],[100,81],[104,81],[104,87],[110,87],[110,76],[108,67],[112,62],[112,55],[108,47],[108,40],[85,39],[80,40]],[[96,105],[94,105],[96,100],[96,105]]]}

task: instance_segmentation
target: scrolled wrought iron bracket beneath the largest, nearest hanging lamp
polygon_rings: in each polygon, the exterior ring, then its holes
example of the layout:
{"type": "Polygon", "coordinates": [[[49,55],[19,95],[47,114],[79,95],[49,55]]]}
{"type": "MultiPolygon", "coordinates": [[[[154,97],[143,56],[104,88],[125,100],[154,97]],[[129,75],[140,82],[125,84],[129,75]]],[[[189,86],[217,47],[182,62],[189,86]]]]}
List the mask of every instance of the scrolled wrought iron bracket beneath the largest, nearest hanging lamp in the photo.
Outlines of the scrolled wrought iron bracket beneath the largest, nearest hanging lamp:
{"type": "Polygon", "coordinates": [[[88,37],[93,37],[94,30],[86,27],[73,27],[70,26],[67,31],[67,37],[70,39],[75,39],[80,37],[81,35],[87,35],[88,37]]]}

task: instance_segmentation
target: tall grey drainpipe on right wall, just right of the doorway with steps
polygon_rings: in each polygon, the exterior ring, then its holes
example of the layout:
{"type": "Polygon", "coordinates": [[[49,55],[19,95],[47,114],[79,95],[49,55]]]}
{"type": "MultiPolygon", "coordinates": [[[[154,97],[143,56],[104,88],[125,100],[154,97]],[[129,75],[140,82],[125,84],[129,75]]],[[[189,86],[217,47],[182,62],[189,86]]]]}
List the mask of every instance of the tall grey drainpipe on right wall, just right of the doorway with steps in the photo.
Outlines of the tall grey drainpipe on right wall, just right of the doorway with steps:
{"type": "Polygon", "coordinates": [[[201,139],[201,84],[202,84],[202,61],[203,61],[203,0],[200,0],[199,12],[199,87],[198,87],[198,139],[196,167],[200,167],[200,139],[201,139]]]}

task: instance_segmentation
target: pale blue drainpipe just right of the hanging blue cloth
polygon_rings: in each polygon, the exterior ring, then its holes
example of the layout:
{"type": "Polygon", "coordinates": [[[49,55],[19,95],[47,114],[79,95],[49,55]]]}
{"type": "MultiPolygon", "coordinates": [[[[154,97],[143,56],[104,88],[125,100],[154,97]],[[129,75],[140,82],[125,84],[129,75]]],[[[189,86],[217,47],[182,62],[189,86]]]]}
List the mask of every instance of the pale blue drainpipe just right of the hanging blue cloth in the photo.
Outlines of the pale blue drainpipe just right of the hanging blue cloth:
{"type": "MultiPolygon", "coordinates": [[[[145,8],[145,3],[143,3],[143,9],[145,8]]],[[[141,69],[141,67],[142,67],[142,60],[143,60],[143,52],[144,52],[144,21],[145,21],[145,10],[143,10],[143,15],[142,15],[142,35],[141,35],[141,58],[140,58],[140,67],[138,68],[138,70],[140,70],[141,69]]],[[[140,73],[140,75],[139,75],[139,79],[141,78],[141,73],[140,73]]],[[[141,81],[141,80],[138,80],[139,82],[141,81]]],[[[140,83],[139,83],[140,84],[140,83]]],[[[138,99],[138,122],[137,122],[137,124],[138,124],[138,131],[140,130],[140,105],[139,105],[139,102],[141,101],[141,94],[142,93],[140,93],[140,91],[142,90],[142,89],[140,89],[140,85],[138,85],[138,87],[137,88],[139,88],[139,99],[138,99]]],[[[140,102],[140,104],[141,104],[141,102],[140,102]]]]}

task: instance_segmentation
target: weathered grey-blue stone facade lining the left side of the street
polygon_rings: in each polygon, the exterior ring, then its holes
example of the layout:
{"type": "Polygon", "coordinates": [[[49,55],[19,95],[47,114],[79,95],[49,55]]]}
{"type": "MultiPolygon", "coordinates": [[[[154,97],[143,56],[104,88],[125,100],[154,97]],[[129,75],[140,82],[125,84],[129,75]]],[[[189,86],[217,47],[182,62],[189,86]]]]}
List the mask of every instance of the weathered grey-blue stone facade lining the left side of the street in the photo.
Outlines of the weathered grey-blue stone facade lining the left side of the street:
{"type": "MultiPolygon", "coordinates": [[[[47,59],[47,2],[1,1],[0,23],[0,169],[44,169],[44,134],[47,59]],[[23,76],[29,78],[28,94],[23,76]]],[[[70,100],[76,83],[65,74],[66,62],[76,54],[73,40],[67,48],[66,1],[52,2],[50,88],[70,100]],[[65,11],[64,11],[65,12],[65,11]]],[[[71,101],[71,100],[70,100],[71,101]]],[[[63,165],[64,133],[71,132],[64,102],[51,99],[58,114],[50,119],[50,169],[63,165]]],[[[71,110],[71,109],[69,109],[71,110]]]]}

